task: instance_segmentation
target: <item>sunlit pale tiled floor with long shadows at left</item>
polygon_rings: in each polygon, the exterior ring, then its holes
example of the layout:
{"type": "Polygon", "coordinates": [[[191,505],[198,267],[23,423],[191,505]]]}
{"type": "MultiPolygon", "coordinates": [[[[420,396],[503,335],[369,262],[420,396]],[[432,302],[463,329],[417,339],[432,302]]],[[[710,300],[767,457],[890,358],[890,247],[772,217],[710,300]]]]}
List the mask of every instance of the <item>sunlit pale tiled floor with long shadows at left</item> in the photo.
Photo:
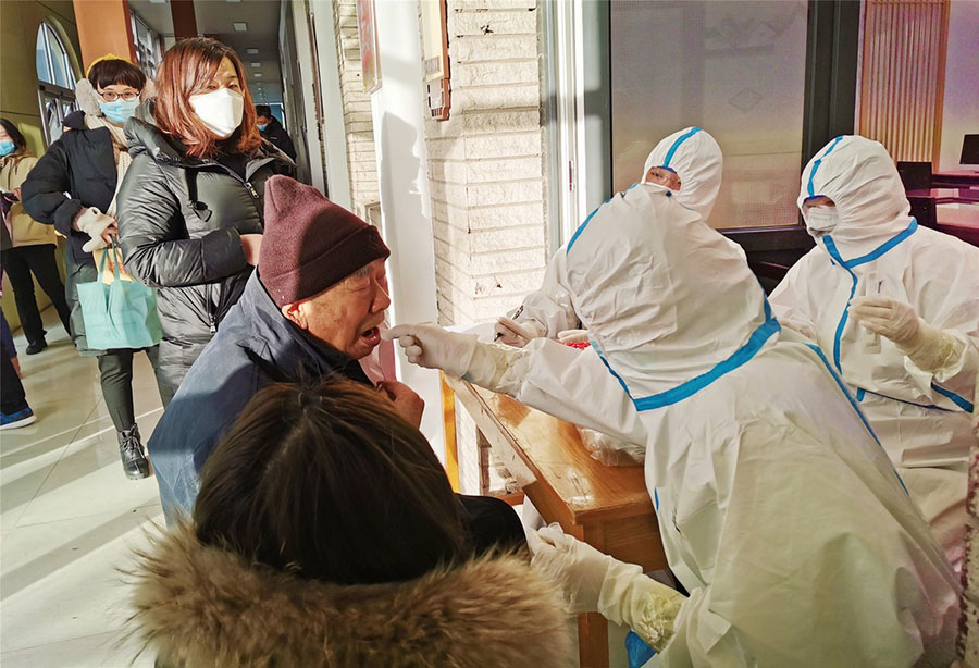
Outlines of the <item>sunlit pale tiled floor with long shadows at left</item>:
{"type": "MultiPolygon", "coordinates": [[[[50,346],[24,355],[15,336],[34,424],[0,432],[0,665],[88,668],[129,665],[120,631],[128,564],[144,529],[162,523],[153,479],[126,480],[95,358],[75,352],[53,310],[50,346]]],[[[144,441],[160,418],[152,369],[138,355],[136,415],[144,441]]],[[[134,666],[152,666],[141,656],[134,666]]]]}

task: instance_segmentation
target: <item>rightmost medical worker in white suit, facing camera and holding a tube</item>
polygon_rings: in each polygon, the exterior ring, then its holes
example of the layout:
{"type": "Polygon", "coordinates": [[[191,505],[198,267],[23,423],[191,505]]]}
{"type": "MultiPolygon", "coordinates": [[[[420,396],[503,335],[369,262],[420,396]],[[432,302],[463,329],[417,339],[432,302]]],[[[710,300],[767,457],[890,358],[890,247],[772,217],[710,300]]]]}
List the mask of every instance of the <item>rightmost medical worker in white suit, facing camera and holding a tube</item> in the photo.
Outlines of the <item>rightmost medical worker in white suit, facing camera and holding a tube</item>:
{"type": "Polygon", "coordinates": [[[803,172],[810,250],[772,293],[851,386],[953,565],[965,543],[970,412],[979,367],[979,248],[918,226],[894,162],[864,137],[829,143],[803,172]]]}

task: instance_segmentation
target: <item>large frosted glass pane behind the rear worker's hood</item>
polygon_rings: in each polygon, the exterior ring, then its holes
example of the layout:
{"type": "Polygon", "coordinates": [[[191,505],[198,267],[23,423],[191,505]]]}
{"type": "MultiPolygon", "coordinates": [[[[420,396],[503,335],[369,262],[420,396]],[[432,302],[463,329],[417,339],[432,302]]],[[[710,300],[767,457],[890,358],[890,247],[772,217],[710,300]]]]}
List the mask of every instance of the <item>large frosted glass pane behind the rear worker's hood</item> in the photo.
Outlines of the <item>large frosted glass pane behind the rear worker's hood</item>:
{"type": "Polygon", "coordinates": [[[724,153],[714,227],[797,223],[806,2],[610,5],[615,189],[642,177],[659,139],[696,125],[724,153]]]}

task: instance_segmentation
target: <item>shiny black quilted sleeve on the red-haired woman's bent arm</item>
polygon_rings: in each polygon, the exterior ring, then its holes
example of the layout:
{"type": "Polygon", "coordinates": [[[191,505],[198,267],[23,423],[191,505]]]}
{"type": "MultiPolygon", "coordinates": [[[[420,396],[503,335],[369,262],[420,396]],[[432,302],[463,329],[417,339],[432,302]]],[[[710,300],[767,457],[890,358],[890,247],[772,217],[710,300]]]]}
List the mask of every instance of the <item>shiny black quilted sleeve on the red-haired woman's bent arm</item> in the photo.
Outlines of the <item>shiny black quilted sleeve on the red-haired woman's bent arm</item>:
{"type": "Polygon", "coordinates": [[[212,283],[246,268],[237,230],[186,238],[177,194],[146,153],[133,159],[119,191],[119,232],[126,269],[154,287],[212,283]]]}

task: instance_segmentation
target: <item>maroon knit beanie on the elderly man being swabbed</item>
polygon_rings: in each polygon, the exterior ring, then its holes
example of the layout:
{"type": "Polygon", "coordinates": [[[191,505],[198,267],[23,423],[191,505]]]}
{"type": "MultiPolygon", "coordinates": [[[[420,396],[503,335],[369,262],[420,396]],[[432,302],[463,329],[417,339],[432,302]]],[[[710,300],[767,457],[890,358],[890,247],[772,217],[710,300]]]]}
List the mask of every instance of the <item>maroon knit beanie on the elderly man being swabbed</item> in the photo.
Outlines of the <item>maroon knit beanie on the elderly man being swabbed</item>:
{"type": "Polygon", "coordinates": [[[280,307],[322,293],[391,250],[373,225],[287,176],[265,182],[259,279],[280,307]]]}

